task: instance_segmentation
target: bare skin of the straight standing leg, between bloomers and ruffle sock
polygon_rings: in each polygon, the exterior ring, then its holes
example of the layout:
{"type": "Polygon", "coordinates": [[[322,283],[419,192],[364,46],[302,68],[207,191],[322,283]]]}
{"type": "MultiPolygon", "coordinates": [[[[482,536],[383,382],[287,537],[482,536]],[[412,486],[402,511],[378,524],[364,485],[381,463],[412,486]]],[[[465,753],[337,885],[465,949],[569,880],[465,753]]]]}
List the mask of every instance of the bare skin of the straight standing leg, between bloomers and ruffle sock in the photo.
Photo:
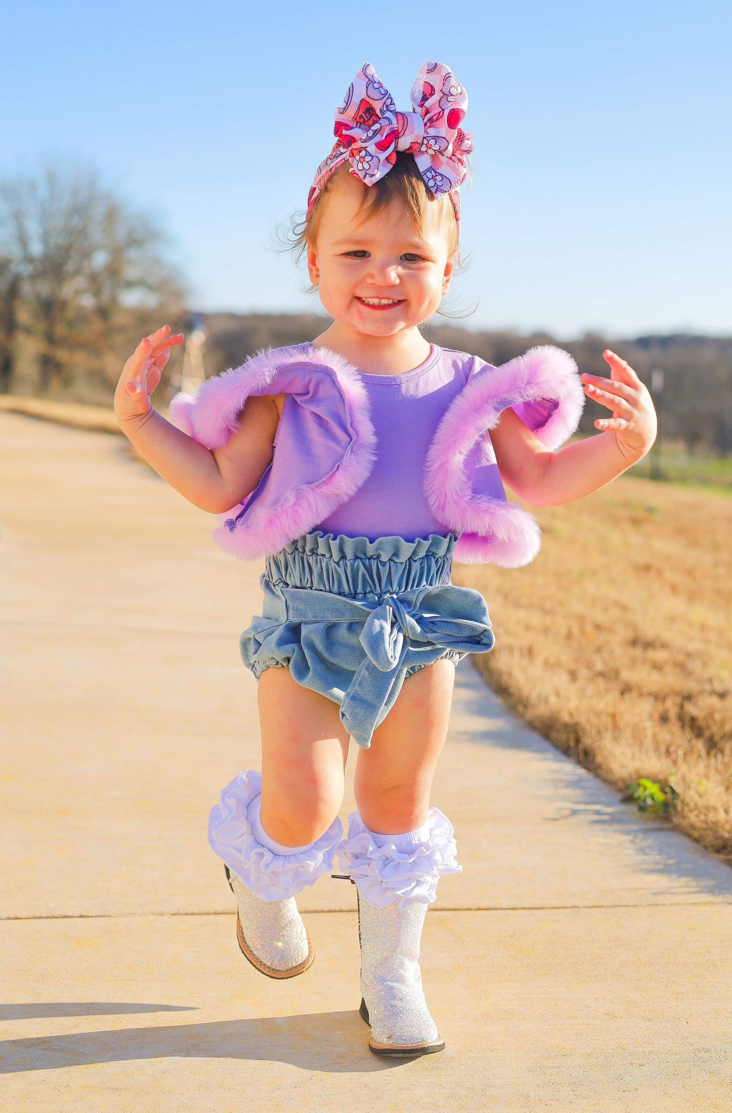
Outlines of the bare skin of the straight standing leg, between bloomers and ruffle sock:
{"type": "Polygon", "coordinates": [[[407,677],[370,748],[358,751],[356,804],[369,830],[398,835],[425,823],[454,679],[455,666],[447,660],[407,677]]]}

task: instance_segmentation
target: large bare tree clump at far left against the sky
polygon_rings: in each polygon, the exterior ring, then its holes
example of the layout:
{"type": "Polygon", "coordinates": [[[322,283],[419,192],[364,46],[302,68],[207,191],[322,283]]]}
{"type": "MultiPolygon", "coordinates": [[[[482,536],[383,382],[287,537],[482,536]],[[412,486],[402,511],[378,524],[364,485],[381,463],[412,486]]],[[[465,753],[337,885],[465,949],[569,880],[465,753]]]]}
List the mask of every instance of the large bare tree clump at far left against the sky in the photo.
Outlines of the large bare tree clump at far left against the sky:
{"type": "Polygon", "coordinates": [[[181,311],[162,233],[87,168],[56,164],[0,181],[0,250],[11,260],[42,393],[80,374],[113,381],[129,337],[160,313],[181,311]]]}

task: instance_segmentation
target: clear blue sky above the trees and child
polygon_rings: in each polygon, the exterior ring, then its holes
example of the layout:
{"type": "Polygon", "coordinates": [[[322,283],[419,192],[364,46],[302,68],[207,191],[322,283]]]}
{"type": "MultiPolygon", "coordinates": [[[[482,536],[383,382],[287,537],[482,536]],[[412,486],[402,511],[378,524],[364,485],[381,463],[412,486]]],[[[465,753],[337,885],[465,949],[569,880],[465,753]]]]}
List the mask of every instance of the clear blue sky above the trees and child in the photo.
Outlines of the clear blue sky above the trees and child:
{"type": "Polygon", "coordinates": [[[732,333],[732,6],[0,0],[0,171],[92,165],[207,309],[316,309],[271,249],[370,61],[469,95],[469,326],[732,333]]]}

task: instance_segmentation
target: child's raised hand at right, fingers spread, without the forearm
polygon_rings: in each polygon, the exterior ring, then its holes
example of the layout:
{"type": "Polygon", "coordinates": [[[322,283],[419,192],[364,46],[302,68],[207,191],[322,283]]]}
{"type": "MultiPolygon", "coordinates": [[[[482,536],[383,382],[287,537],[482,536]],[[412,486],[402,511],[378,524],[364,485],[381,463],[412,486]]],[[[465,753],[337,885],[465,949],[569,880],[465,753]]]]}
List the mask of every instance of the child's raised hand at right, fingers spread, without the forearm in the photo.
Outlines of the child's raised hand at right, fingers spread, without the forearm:
{"type": "Polygon", "coordinates": [[[590,398],[613,411],[601,417],[595,429],[614,432],[617,447],[627,459],[644,456],[656,434],[656,416],[649,390],[624,359],[606,348],[603,359],[610,364],[610,378],[581,375],[590,398]]]}

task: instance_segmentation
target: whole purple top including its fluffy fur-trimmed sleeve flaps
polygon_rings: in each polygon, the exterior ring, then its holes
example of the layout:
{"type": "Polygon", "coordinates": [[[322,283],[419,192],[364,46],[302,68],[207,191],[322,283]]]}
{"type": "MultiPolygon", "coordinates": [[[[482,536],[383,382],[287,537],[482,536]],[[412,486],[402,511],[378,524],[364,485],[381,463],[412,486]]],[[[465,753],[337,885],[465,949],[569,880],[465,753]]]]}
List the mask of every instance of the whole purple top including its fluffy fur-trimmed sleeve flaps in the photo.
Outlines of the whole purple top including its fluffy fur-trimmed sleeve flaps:
{"type": "Polygon", "coordinates": [[[170,413],[214,452],[240,429],[248,397],[275,394],[286,397],[271,463],[215,532],[241,560],[279,552],[318,525],[414,536],[439,523],[459,534],[456,560],[521,568],[538,552],[538,524],[507,502],[491,430],[511,407],[553,451],[577,427],[584,402],[576,364],[560,348],[531,348],[501,367],[435,348],[413,372],[383,377],[301,344],[261,352],[195,396],[176,395],[170,413]]]}

